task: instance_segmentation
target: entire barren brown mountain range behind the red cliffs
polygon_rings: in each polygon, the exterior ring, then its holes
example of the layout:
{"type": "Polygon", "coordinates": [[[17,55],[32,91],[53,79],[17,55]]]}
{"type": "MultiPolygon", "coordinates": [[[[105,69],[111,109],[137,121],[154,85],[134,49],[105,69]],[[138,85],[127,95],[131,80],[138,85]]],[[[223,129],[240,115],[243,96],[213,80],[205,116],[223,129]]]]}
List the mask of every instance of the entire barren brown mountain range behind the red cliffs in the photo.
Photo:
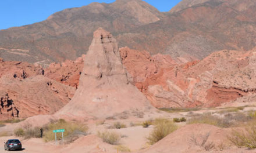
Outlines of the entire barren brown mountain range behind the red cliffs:
{"type": "Polygon", "coordinates": [[[0,56],[41,65],[75,60],[87,52],[93,31],[103,27],[120,47],[201,60],[218,50],[253,49],[255,9],[253,0],[184,0],[169,12],[141,0],[91,3],[1,30],[0,56]]]}

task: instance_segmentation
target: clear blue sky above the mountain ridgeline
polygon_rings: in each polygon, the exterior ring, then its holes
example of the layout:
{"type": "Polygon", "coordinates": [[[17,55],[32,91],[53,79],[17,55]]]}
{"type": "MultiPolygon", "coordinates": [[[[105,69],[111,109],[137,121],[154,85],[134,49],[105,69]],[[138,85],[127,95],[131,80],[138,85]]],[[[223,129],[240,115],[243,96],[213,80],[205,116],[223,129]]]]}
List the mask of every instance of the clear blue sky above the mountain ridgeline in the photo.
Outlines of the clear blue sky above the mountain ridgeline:
{"type": "MultiPolygon", "coordinates": [[[[0,30],[33,24],[67,8],[88,5],[91,2],[111,3],[115,0],[0,0],[0,30]]],[[[127,0],[129,1],[129,0],[127,0]]],[[[144,0],[161,12],[169,11],[181,0],[144,0]]]]}

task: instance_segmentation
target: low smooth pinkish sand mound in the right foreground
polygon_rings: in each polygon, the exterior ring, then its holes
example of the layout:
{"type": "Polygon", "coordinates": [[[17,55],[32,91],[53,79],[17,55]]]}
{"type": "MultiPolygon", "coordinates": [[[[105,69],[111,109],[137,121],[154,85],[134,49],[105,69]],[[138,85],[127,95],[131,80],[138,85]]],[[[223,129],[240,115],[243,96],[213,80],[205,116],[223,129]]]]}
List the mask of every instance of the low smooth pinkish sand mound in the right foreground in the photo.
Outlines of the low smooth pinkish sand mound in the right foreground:
{"type": "MultiPolygon", "coordinates": [[[[147,153],[171,153],[171,152],[209,152],[206,151],[204,147],[200,147],[195,144],[193,138],[197,139],[197,143],[201,144],[202,140],[205,138],[206,134],[209,133],[209,137],[205,145],[210,143],[215,145],[215,149],[210,150],[210,152],[218,152],[218,146],[223,144],[226,147],[229,146],[229,140],[226,138],[226,134],[229,133],[229,129],[221,129],[212,125],[204,124],[194,124],[186,125],[182,128],[176,130],[175,132],[169,134],[158,143],[152,145],[150,148],[141,151],[147,153]]],[[[233,148],[225,148],[227,152],[246,152],[246,150],[233,150],[233,148]]],[[[224,152],[225,152],[224,150],[224,152]]]]}

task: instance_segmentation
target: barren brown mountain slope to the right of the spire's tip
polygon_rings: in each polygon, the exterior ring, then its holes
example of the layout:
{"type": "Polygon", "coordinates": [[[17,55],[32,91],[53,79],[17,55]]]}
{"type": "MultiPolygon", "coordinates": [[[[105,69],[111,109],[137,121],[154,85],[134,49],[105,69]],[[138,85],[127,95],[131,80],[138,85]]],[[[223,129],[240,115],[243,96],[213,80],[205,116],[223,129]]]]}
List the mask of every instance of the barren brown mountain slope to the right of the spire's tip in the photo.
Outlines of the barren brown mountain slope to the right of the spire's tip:
{"type": "MultiPolygon", "coordinates": [[[[203,59],[222,50],[250,50],[256,46],[255,1],[211,0],[184,9],[155,23],[118,35],[120,46],[203,59]]],[[[189,5],[189,6],[187,6],[189,5]]]]}

